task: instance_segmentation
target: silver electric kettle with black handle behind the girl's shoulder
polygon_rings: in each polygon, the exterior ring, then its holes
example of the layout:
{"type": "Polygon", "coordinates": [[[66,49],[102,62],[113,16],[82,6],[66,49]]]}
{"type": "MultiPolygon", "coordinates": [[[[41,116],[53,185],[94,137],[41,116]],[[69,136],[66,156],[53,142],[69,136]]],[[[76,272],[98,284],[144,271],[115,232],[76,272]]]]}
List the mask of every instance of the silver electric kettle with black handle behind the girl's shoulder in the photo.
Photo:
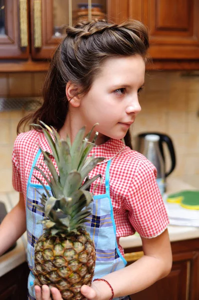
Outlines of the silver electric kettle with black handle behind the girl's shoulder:
{"type": "Polygon", "coordinates": [[[176,154],[171,137],[159,132],[144,132],[137,136],[136,149],[145,155],[157,168],[157,182],[161,193],[165,191],[165,178],[173,172],[176,166],[176,154]],[[168,146],[171,167],[166,171],[166,158],[163,144],[168,146]]]}

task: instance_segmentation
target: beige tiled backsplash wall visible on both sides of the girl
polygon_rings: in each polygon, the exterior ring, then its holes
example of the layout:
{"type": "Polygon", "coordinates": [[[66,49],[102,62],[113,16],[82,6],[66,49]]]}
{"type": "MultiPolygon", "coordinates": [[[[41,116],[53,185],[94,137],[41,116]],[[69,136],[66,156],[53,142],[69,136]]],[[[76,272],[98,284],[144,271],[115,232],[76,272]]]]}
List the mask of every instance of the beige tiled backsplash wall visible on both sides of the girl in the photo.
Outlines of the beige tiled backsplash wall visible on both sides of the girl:
{"type": "MultiPolygon", "coordinates": [[[[44,75],[0,74],[0,97],[37,96],[44,75]]],[[[171,176],[199,187],[199,76],[150,72],[140,103],[142,112],[133,125],[133,136],[146,131],[169,134],[177,154],[177,166],[171,176]]],[[[0,112],[0,192],[12,190],[11,152],[16,125],[23,115],[23,111],[0,112]]]]}

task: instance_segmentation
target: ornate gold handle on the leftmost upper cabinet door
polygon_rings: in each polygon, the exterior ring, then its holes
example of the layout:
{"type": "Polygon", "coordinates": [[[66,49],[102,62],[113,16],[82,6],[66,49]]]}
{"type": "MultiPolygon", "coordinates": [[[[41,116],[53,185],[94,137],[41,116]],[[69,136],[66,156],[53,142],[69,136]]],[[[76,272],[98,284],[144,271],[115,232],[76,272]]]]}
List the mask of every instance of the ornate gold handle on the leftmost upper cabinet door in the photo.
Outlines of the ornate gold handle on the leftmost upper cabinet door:
{"type": "Polygon", "coordinates": [[[19,0],[20,47],[27,47],[27,0],[19,0]]]}

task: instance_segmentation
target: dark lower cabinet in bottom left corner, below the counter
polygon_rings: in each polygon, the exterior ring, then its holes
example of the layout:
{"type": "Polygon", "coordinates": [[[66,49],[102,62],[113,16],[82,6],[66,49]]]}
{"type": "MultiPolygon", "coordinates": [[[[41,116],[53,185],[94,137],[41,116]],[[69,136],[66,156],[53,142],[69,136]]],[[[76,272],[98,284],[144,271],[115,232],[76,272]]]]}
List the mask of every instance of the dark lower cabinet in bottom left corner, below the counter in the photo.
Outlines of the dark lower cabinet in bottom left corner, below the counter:
{"type": "Polygon", "coordinates": [[[0,300],[27,300],[27,278],[29,268],[26,262],[0,277],[0,300]]]}

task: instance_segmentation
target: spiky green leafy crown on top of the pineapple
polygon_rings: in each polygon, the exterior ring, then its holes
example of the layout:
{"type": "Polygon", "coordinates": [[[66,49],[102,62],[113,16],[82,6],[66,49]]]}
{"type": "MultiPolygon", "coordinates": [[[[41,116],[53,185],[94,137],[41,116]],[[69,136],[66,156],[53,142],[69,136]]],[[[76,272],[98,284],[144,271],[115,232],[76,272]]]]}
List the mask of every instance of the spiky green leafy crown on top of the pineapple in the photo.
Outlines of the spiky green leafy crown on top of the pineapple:
{"type": "Polygon", "coordinates": [[[95,132],[92,142],[89,142],[96,124],[85,137],[85,126],[83,126],[71,144],[68,135],[66,139],[61,139],[52,126],[48,126],[42,121],[40,123],[42,126],[39,124],[32,125],[42,129],[52,154],[44,151],[38,145],[43,153],[43,162],[47,169],[42,163],[40,163],[41,168],[37,166],[34,166],[34,168],[46,180],[51,188],[52,195],[43,181],[34,176],[45,190],[45,193],[40,193],[43,206],[34,204],[34,206],[45,213],[45,218],[38,221],[38,223],[45,224],[45,230],[50,231],[52,235],[57,233],[74,234],[80,228],[83,228],[82,224],[91,213],[91,208],[88,205],[93,201],[93,193],[90,193],[88,188],[98,177],[101,179],[101,174],[93,178],[88,177],[88,173],[97,163],[105,159],[104,157],[95,158],[94,155],[87,158],[91,149],[96,146],[95,140],[98,132],[95,132]],[[56,161],[58,172],[51,160],[51,155],[56,161]],[[47,172],[47,175],[42,168],[47,172]]]}

